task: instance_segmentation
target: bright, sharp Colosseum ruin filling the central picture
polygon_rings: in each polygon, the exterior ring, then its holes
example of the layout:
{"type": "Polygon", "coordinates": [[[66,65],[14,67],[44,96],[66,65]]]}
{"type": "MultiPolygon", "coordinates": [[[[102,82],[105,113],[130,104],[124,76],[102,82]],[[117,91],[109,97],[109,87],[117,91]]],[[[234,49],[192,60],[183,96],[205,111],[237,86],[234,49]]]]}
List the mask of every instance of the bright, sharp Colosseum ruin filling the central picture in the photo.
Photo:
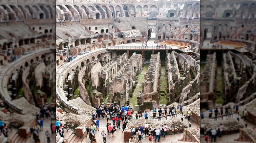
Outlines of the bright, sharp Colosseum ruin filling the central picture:
{"type": "MultiPolygon", "coordinates": [[[[199,142],[199,8],[199,1],[57,0],[56,118],[68,132],[56,142],[90,142],[91,115],[107,104],[128,104],[133,115],[149,117],[127,119],[108,142],[128,141],[130,128],[146,122],[169,126],[161,142],[199,142]],[[191,109],[191,121],[176,114],[179,103],[185,114],[191,109]],[[153,118],[165,105],[175,106],[174,118],[153,118]]],[[[101,118],[98,132],[107,132],[106,124],[101,118]]]]}

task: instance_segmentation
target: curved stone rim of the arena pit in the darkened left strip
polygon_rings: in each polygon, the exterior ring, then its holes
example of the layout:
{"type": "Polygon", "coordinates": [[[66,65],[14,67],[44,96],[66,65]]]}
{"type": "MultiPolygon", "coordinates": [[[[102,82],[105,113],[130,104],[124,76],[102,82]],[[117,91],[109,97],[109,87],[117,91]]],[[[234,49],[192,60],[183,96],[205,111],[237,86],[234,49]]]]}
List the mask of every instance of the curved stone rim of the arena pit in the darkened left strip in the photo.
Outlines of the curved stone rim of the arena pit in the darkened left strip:
{"type": "Polygon", "coordinates": [[[19,58],[19,60],[16,60],[12,63],[10,63],[9,65],[7,65],[5,68],[1,69],[1,73],[0,73],[0,96],[1,98],[4,100],[5,103],[7,103],[11,108],[13,108],[16,112],[23,114],[23,109],[14,104],[12,102],[12,99],[10,97],[10,95],[8,94],[8,90],[7,90],[7,82],[8,82],[8,74],[12,71],[12,69],[14,69],[17,66],[20,66],[20,63],[22,63],[24,60],[26,60],[27,58],[36,55],[36,54],[40,54],[40,53],[45,53],[48,52],[49,49],[40,49],[37,50],[33,53],[21,56],[21,58],[19,58]]]}

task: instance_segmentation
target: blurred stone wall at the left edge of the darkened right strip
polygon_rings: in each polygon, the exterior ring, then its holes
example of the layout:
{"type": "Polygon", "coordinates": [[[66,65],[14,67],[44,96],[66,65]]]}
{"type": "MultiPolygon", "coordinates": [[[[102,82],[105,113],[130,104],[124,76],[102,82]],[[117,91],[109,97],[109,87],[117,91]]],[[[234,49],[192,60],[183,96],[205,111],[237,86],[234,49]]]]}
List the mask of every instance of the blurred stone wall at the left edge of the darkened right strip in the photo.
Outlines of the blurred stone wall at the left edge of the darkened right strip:
{"type": "Polygon", "coordinates": [[[215,103],[216,75],[217,75],[217,59],[216,53],[208,54],[204,71],[201,73],[200,93],[201,108],[208,109],[208,101],[215,103]]]}

